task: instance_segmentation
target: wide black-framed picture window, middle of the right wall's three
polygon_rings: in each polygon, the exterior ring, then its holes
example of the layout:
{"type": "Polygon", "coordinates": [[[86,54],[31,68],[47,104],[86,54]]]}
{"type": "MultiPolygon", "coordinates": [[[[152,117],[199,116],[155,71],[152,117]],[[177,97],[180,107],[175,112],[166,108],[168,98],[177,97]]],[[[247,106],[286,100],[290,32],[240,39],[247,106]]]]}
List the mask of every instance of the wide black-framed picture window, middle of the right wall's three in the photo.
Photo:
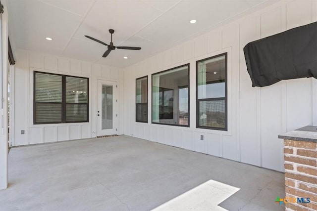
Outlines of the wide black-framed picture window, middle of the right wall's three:
{"type": "Polygon", "coordinates": [[[152,123],[189,127],[189,64],[152,74],[152,123]]]}

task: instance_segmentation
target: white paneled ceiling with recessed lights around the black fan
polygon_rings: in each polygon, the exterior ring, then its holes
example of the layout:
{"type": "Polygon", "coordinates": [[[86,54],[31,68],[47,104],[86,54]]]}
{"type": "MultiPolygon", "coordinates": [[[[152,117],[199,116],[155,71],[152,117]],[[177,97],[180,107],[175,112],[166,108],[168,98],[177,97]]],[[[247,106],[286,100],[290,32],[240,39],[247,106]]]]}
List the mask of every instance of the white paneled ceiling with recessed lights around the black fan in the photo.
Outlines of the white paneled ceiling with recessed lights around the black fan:
{"type": "Polygon", "coordinates": [[[273,0],[8,0],[10,41],[15,48],[127,67],[196,37],[273,0]],[[196,24],[190,24],[196,19],[196,24]],[[106,46],[116,49],[103,58],[106,46]],[[51,37],[49,42],[45,38],[51,37]],[[128,56],[128,59],[123,59],[128,56]]]}

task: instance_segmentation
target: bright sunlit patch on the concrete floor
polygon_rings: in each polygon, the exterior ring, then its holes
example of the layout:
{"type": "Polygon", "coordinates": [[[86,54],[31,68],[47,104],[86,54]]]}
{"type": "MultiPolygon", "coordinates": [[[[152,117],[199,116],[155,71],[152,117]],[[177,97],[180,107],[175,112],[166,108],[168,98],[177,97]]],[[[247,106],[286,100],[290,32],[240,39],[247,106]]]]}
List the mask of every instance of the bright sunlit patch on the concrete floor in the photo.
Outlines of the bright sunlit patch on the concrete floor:
{"type": "Polygon", "coordinates": [[[211,179],[160,205],[153,211],[226,211],[226,209],[219,207],[218,204],[238,190],[240,188],[211,179]]]}

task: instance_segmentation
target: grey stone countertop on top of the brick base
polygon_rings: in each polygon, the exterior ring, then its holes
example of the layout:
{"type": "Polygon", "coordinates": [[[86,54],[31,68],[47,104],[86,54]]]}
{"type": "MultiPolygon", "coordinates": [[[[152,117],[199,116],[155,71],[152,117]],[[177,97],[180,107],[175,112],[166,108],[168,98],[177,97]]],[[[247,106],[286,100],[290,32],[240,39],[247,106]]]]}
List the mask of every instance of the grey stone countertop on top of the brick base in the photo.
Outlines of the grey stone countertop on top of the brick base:
{"type": "Polygon", "coordinates": [[[317,126],[306,126],[296,130],[283,133],[278,138],[294,140],[294,141],[309,141],[317,142],[317,126]]]}

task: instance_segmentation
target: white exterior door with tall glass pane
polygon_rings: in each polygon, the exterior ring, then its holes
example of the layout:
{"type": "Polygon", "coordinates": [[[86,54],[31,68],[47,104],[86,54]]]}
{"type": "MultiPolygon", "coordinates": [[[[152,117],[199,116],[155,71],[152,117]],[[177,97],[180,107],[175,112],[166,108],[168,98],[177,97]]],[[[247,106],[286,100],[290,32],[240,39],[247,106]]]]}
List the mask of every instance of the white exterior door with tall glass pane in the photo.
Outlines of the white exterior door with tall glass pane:
{"type": "Polygon", "coordinates": [[[118,134],[117,83],[98,80],[97,136],[118,134]]]}

